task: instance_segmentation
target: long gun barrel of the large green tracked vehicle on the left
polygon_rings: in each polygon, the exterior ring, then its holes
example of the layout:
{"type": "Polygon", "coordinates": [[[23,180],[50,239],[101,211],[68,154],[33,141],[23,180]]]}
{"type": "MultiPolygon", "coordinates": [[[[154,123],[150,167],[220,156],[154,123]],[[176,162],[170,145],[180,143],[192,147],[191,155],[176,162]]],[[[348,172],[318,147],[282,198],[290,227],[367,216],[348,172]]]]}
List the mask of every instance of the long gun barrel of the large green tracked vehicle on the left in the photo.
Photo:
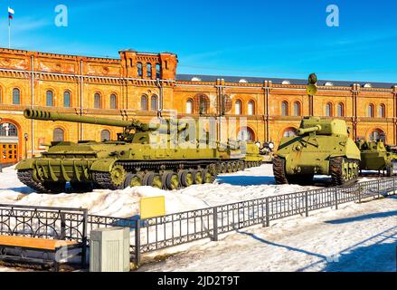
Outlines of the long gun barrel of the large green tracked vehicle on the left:
{"type": "MultiPolygon", "coordinates": [[[[42,120],[42,121],[71,121],[77,123],[96,124],[104,126],[122,127],[128,129],[134,129],[136,131],[156,131],[156,130],[167,130],[168,126],[165,124],[155,123],[142,123],[141,121],[131,120],[111,120],[107,118],[79,116],[74,114],[64,114],[58,111],[43,111],[26,109],[24,111],[24,117],[26,119],[42,120]]],[[[173,123],[175,124],[175,122],[173,123]]],[[[187,128],[187,124],[182,123],[177,127],[177,131],[184,131],[187,128]]]]}

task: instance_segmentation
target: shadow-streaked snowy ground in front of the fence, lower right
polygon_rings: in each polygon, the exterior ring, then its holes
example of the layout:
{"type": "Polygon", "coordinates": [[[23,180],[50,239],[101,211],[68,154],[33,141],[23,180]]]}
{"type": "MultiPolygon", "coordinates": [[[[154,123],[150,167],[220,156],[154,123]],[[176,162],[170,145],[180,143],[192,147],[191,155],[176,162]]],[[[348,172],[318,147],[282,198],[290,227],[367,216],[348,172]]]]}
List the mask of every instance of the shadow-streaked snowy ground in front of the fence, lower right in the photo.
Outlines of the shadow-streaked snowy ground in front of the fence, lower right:
{"type": "Polygon", "coordinates": [[[322,209],[220,238],[139,271],[396,271],[397,197],[322,209]]]}

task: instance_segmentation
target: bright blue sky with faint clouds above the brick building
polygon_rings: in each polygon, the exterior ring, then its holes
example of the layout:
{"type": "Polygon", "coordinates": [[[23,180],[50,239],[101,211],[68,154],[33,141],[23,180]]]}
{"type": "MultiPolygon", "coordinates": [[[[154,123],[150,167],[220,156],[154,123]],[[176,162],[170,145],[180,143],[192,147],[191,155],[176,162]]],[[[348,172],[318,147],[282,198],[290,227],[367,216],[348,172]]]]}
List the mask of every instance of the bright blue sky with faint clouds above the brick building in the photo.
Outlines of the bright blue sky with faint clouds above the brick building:
{"type": "Polygon", "coordinates": [[[397,82],[397,1],[0,0],[0,46],[118,57],[173,52],[178,73],[397,82]],[[69,26],[54,24],[67,5],[69,26]],[[326,25],[338,5],[340,26],[326,25]]]}

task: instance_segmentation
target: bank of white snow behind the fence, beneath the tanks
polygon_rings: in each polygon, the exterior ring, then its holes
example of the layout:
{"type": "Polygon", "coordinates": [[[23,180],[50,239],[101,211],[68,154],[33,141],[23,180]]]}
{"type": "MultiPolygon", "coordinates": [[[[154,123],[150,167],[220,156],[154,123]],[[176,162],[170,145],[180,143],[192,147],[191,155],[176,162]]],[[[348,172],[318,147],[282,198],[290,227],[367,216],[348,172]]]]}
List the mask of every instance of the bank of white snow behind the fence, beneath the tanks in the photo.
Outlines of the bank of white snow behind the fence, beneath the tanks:
{"type": "Polygon", "coordinates": [[[138,214],[142,197],[165,196],[167,213],[263,198],[275,194],[317,189],[298,185],[277,186],[272,166],[220,176],[213,184],[195,185],[187,189],[165,191],[150,187],[124,190],[96,189],[84,194],[43,195],[34,193],[16,177],[14,168],[0,173],[0,204],[33,205],[45,207],[88,208],[90,214],[128,218],[138,214]]]}

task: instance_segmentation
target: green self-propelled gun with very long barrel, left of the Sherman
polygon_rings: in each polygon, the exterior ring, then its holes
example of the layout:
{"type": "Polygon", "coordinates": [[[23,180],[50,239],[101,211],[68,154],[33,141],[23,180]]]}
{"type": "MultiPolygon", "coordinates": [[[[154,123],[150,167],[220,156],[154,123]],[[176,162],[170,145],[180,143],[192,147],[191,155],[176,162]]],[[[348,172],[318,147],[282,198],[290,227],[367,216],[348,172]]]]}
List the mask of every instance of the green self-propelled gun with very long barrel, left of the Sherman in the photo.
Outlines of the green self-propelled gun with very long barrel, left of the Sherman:
{"type": "Polygon", "coordinates": [[[178,189],[213,182],[217,175],[216,148],[199,148],[198,141],[178,142],[186,123],[147,124],[30,109],[24,117],[123,128],[116,141],[52,142],[42,156],[18,163],[18,179],[41,193],[63,192],[67,183],[72,192],[141,185],[178,189]]]}

